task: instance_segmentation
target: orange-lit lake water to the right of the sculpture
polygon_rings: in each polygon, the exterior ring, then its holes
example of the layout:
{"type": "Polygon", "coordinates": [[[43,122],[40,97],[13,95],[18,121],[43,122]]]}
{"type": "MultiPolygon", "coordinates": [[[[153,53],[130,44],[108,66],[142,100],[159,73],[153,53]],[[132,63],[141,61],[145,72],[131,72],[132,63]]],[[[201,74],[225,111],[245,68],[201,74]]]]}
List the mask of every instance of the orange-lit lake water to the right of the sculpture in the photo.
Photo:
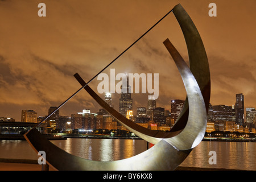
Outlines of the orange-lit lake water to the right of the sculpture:
{"type": "Polygon", "coordinates": [[[181,166],[205,168],[256,169],[256,143],[253,142],[201,142],[181,166]],[[209,164],[210,151],[216,151],[217,164],[209,164]]]}

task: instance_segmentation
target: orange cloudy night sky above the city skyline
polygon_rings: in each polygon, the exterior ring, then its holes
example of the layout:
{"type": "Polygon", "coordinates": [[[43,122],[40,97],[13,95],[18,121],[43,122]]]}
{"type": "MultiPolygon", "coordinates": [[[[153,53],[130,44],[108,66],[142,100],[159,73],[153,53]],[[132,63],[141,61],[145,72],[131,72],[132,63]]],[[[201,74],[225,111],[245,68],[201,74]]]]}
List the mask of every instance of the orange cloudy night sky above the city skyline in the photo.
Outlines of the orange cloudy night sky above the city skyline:
{"type": "MultiPolygon", "coordinates": [[[[20,121],[22,109],[46,115],[80,88],[73,75],[89,81],[163,15],[181,3],[207,51],[212,105],[233,105],[243,93],[245,107],[256,107],[256,1],[174,0],[5,0],[0,1],[0,117],[20,121]],[[46,4],[46,17],[38,4],[46,4]],[[209,3],[217,5],[210,17],[209,3]]],[[[163,41],[169,38],[188,61],[187,47],[171,13],[104,73],[159,73],[157,105],[170,110],[185,89],[163,41]]],[[[97,91],[100,81],[89,85],[97,91]]],[[[102,95],[103,97],[103,95],[102,95]]],[[[119,94],[112,100],[118,110],[119,94]]],[[[132,94],[133,108],[146,106],[147,94],[132,94]]],[[[71,115],[99,106],[81,90],[60,109],[71,115]]]]}

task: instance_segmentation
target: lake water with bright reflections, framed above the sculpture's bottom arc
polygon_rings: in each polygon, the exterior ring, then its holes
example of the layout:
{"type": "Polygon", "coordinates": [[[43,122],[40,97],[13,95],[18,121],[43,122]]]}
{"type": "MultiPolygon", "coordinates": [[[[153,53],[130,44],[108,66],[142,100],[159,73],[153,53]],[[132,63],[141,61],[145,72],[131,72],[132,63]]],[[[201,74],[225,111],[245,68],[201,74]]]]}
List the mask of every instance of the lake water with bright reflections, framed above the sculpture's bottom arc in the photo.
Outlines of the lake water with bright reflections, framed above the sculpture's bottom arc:
{"type": "Polygon", "coordinates": [[[52,140],[56,146],[69,154],[84,159],[98,161],[113,161],[130,158],[145,151],[144,140],[130,139],[70,139],[52,140]]]}

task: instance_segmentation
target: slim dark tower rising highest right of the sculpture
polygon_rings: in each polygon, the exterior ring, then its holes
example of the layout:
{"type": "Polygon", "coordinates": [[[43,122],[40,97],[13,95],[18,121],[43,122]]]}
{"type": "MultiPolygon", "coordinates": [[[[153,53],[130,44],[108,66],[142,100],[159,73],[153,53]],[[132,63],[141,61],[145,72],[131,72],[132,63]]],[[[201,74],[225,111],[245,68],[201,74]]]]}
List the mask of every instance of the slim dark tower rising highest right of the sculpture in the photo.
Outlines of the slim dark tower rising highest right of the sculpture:
{"type": "Polygon", "coordinates": [[[243,125],[245,119],[245,107],[243,94],[236,94],[236,124],[243,125]]]}

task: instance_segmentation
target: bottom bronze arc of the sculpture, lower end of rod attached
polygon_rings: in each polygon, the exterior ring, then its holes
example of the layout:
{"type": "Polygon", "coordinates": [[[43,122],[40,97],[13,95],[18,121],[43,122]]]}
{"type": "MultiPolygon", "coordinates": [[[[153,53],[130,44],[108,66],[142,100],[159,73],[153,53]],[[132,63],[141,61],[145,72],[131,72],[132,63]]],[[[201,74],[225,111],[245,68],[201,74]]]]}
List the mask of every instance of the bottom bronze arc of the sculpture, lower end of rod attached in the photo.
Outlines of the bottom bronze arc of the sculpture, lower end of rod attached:
{"type": "Polygon", "coordinates": [[[39,151],[46,152],[46,162],[49,166],[61,171],[174,170],[191,152],[191,150],[177,151],[166,141],[160,140],[147,151],[131,158],[100,162],[80,158],[65,152],[49,142],[36,129],[30,130],[24,137],[37,153],[39,151]]]}

